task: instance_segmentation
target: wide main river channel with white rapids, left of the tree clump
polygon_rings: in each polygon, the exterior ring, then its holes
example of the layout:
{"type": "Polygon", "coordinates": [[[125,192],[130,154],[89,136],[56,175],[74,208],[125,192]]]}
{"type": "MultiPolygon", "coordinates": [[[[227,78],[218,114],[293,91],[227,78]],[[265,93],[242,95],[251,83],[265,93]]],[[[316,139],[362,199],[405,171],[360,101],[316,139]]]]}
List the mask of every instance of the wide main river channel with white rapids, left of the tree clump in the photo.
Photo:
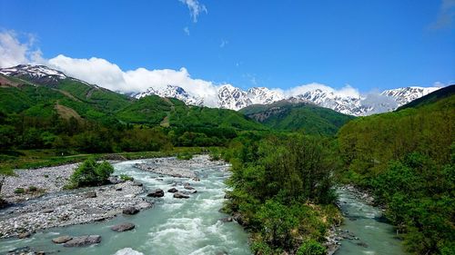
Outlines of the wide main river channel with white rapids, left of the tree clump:
{"type": "MultiPolygon", "coordinates": [[[[174,181],[187,181],[174,177],[161,177],[134,167],[138,161],[114,164],[115,174],[127,174],[143,182],[149,190],[167,191],[174,181]]],[[[34,250],[60,251],[62,254],[250,254],[248,234],[236,222],[219,221],[227,214],[219,212],[223,205],[226,181],[225,167],[207,166],[197,169],[201,181],[192,182],[197,193],[190,199],[175,199],[165,192],[163,198],[154,199],[153,208],[132,216],[119,216],[110,221],[65,228],[54,228],[35,233],[26,240],[0,241],[0,254],[18,247],[29,246],[34,250]],[[136,228],[117,233],[110,227],[132,222],[136,228]],[[65,248],[51,242],[60,235],[97,234],[102,236],[98,245],[86,248],[65,248]]]]}

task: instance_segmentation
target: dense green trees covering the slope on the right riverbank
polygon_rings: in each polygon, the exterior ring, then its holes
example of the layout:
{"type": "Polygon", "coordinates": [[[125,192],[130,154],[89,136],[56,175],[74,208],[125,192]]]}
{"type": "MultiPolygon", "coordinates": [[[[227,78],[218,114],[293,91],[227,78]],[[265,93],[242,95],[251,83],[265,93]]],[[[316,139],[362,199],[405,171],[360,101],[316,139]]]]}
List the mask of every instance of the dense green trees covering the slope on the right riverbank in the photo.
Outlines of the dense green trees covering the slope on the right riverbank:
{"type": "Polygon", "coordinates": [[[339,131],[339,176],[374,191],[415,254],[455,253],[455,96],[442,98],[339,131]]]}

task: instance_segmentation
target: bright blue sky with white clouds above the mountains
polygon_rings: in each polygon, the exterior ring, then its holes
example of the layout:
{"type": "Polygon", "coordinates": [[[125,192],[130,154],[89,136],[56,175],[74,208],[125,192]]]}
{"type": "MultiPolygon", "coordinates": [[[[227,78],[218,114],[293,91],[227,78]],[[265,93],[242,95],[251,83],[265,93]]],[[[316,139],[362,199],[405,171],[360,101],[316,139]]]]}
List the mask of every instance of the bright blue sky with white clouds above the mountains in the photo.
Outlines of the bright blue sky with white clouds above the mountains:
{"type": "Polygon", "coordinates": [[[121,92],[447,85],[455,0],[0,0],[0,67],[25,63],[121,92]]]}

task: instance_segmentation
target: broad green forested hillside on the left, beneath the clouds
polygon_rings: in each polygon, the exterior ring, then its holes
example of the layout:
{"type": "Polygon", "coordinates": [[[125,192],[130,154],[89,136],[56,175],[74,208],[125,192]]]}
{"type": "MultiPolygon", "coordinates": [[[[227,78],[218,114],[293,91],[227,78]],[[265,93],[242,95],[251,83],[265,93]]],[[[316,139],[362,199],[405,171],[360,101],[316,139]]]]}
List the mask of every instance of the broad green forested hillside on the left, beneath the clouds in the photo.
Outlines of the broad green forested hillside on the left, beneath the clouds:
{"type": "Polygon", "coordinates": [[[267,130],[231,110],[158,96],[136,100],[73,78],[52,83],[25,78],[1,75],[3,150],[156,151],[173,145],[224,145],[238,132],[267,130]]]}

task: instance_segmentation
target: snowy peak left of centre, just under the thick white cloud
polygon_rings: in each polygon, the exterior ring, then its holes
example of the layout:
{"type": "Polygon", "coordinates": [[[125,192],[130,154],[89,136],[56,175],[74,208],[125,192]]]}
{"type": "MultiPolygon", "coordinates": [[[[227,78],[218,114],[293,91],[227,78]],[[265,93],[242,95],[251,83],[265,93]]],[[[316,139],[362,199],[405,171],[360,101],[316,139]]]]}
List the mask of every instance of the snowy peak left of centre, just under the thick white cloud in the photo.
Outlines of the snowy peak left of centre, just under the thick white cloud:
{"type": "Polygon", "coordinates": [[[202,98],[198,98],[198,97],[190,95],[182,87],[169,85],[169,84],[166,87],[161,88],[161,89],[154,89],[154,88],[150,87],[145,92],[134,94],[133,97],[139,99],[141,97],[151,95],[151,94],[156,94],[161,97],[177,98],[178,100],[181,100],[184,103],[189,104],[189,105],[202,105],[204,103],[202,98]]]}

